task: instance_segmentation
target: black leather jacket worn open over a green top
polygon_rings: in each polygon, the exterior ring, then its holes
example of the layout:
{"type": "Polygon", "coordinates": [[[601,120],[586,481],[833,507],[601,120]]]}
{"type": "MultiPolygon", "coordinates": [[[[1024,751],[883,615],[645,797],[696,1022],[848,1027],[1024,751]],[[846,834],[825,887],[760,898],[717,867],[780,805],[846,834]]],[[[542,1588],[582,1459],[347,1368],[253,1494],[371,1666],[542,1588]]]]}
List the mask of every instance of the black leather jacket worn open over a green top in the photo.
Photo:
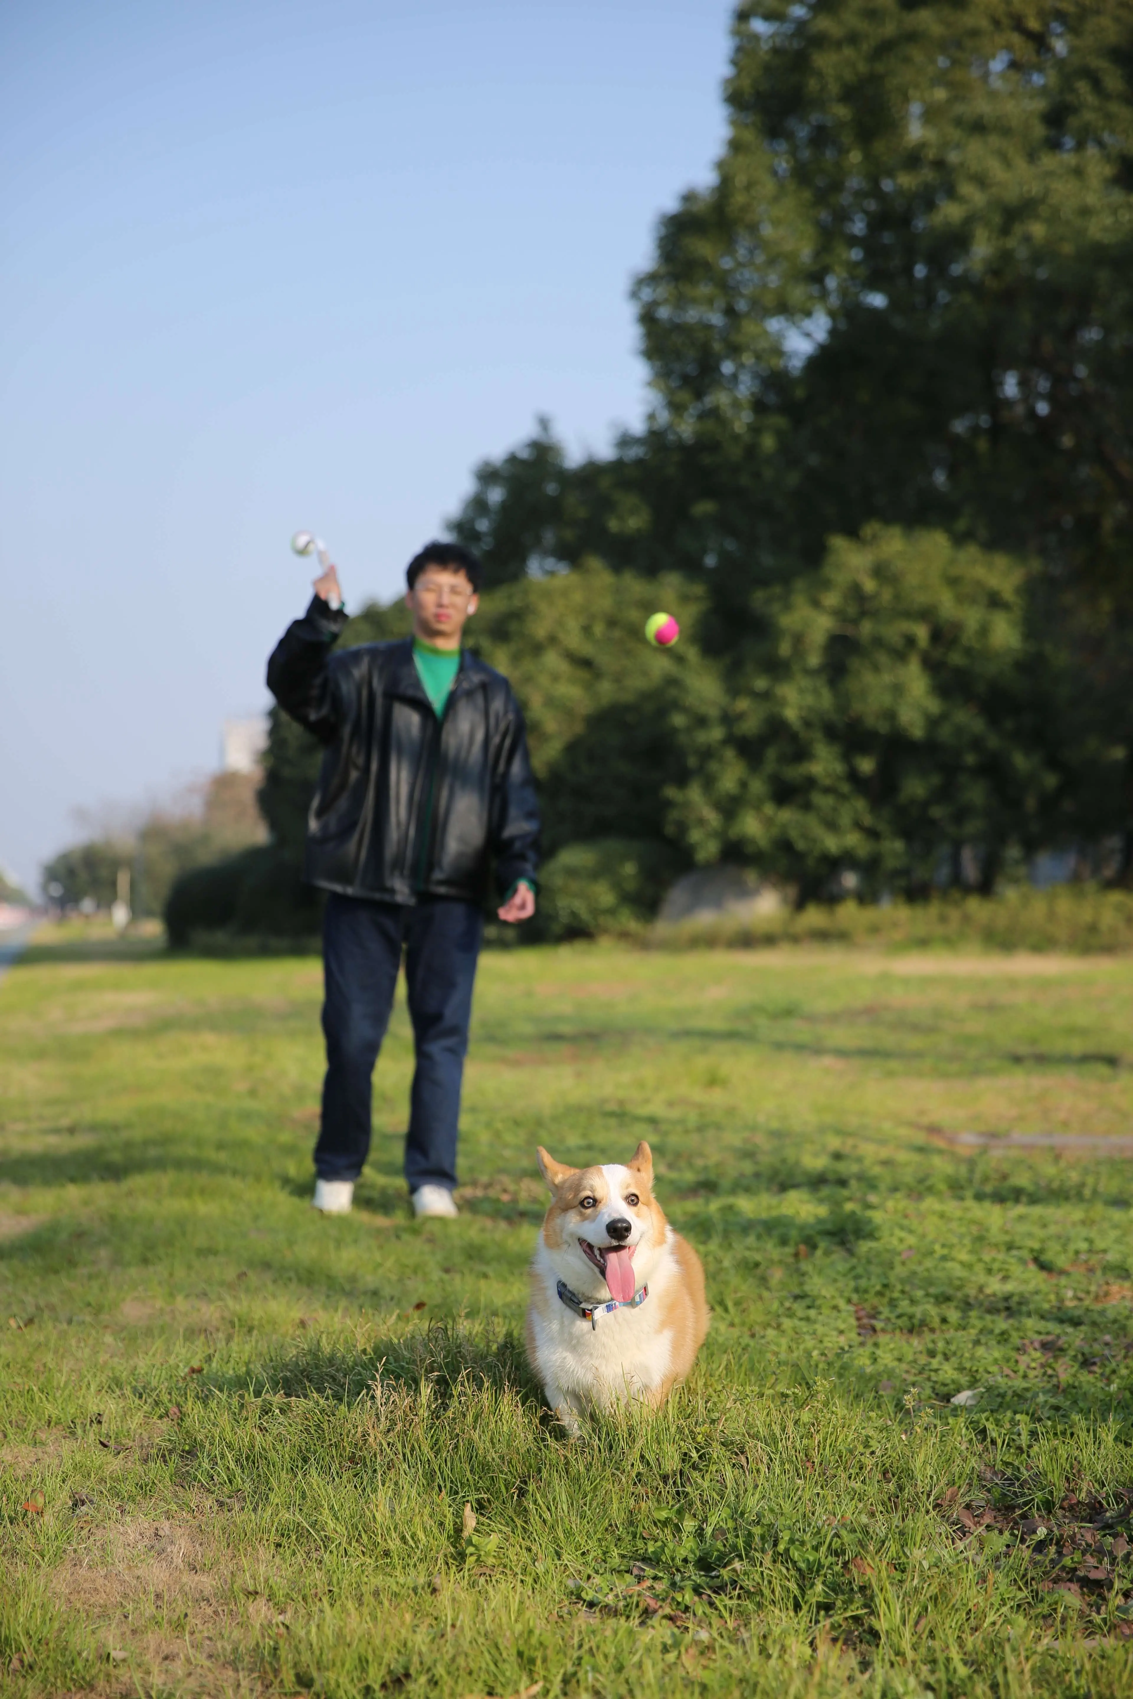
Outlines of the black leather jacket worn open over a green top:
{"type": "Polygon", "coordinates": [[[482,902],[538,872],[538,800],[508,680],[467,651],[443,719],[413,642],[333,654],[347,615],[314,596],[284,632],[268,690],[326,744],[307,816],[306,878],[386,902],[482,902]]]}

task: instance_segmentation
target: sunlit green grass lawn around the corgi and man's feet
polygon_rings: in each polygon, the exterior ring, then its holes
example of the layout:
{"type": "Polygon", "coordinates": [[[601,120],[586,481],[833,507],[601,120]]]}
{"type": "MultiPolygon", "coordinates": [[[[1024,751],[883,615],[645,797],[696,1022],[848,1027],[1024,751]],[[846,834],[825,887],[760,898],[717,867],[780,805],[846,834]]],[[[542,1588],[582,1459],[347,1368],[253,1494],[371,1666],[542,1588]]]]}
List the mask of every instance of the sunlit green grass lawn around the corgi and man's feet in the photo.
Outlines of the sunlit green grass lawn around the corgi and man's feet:
{"type": "Polygon", "coordinates": [[[1128,1138],[1130,958],[491,953],[425,1227],[403,1006],[307,1206],[318,1008],[66,938],[0,984],[3,1692],[1133,1692],[1133,1164],[946,1142],[1128,1138]],[[642,1137],[712,1334],[569,1444],[533,1149],[642,1137]]]}

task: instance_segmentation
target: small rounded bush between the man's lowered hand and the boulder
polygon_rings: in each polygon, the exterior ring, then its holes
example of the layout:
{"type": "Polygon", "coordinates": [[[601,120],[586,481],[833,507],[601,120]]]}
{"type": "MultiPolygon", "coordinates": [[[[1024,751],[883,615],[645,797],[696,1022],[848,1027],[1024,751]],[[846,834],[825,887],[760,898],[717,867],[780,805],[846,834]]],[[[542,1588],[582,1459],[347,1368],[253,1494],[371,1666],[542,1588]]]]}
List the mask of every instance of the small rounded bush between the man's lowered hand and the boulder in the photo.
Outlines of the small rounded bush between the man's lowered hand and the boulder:
{"type": "Polygon", "coordinates": [[[683,861],[656,838],[595,838],[550,858],[538,894],[538,936],[637,931],[654,917],[683,861]]]}

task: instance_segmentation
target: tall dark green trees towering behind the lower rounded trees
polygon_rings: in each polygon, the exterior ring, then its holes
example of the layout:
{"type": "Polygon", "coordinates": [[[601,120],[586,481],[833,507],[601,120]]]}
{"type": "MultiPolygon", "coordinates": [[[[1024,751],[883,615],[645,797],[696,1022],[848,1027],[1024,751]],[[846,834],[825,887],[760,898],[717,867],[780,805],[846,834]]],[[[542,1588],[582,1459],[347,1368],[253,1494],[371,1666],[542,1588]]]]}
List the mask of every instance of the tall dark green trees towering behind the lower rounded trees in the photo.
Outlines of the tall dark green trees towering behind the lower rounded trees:
{"type": "Polygon", "coordinates": [[[727,104],[635,287],[651,420],[576,466],[542,425],[462,535],[686,574],[736,697],[829,537],[1026,559],[1048,831],[1133,878],[1133,0],[744,0],[727,104]]]}

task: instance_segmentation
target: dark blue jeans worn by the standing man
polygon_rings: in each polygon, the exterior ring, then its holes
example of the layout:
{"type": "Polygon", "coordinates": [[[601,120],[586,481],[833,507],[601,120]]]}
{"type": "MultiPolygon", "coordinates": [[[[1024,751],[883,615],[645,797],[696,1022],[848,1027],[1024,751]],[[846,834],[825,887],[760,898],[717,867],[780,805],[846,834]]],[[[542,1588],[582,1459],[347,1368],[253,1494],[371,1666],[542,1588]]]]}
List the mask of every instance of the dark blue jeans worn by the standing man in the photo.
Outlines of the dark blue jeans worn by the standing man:
{"type": "Polygon", "coordinates": [[[319,1179],[357,1179],[370,1150],[374,1064],[406,946],[416,1048],[404,1174],[418,1186],[457,1184],[460,1081],[484,919],[474,902],[425,897],[409,907],[331,894],[323,924],[326,1079],[314,1147],[319,1179]]]}

